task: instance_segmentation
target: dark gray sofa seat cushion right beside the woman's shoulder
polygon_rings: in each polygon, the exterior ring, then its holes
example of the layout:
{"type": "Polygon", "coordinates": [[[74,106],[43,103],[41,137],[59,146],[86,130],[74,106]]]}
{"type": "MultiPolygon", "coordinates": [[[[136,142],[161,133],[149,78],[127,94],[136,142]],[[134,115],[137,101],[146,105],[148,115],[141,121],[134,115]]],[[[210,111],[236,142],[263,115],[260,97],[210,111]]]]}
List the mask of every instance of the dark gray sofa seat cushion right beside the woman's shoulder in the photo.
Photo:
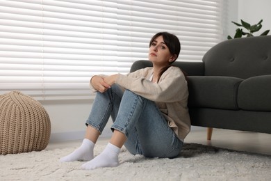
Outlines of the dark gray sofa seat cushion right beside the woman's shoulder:
{"type": "Polygon", "coordinates": [[[188,107],[238,110],[238,86],[235,77],[188,76],[188,107]]]}

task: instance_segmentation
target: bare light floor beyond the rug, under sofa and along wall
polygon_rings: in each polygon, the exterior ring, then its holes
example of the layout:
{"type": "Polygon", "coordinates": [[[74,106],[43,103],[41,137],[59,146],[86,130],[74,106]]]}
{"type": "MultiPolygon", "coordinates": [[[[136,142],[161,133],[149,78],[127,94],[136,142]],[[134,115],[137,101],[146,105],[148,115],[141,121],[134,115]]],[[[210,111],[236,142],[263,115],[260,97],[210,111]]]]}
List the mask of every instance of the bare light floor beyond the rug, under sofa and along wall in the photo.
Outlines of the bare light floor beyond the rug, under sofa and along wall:
{"type": "MultiPolygon", "coordinates": [[[[108,139],[108,137],[99,138],[97,143],[106,144],[108,143],[108,139]]],[[[271,134],[241,132],[228,129],[213,129],[212,140],[207,141],[206,129],[196,129],[192,130],[188,134],[185,142],[271,155],[271,134]]],[[[81,145],[81,140],[62,141],[60,143],[49,143],[47,149],[76,148],[79,145],[81,145]]]]}

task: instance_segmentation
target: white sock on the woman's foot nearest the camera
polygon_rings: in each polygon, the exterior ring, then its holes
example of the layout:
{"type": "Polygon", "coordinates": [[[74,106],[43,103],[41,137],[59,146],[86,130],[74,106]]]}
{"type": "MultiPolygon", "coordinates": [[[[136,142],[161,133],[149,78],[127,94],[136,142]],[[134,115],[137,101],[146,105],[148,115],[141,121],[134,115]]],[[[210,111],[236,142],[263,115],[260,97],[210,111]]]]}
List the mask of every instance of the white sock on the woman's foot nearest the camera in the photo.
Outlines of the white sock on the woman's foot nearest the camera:
{"type": "Polygon", "coordinates": [[[108,143],[100,155],[82,165],[85,170],[94,170],[100,167],[115,167],[119,165],[120,148],[108,143]]]}

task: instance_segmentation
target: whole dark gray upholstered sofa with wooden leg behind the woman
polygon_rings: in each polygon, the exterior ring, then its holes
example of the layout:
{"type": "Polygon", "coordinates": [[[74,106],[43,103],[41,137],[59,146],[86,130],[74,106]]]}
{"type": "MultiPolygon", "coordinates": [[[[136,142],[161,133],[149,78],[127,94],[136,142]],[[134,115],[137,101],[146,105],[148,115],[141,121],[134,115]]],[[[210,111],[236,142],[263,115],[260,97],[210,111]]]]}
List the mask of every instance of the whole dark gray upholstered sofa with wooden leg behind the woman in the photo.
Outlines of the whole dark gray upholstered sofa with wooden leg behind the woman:
{"type": "MultiPolygon", "coordinates": [[[[192,125],[271,133],[271,36],[225,40],[202,62],[174,65],[188,75],[192,125]]],[[[131,72],[149,66],[136,61],[131,72]]]]}

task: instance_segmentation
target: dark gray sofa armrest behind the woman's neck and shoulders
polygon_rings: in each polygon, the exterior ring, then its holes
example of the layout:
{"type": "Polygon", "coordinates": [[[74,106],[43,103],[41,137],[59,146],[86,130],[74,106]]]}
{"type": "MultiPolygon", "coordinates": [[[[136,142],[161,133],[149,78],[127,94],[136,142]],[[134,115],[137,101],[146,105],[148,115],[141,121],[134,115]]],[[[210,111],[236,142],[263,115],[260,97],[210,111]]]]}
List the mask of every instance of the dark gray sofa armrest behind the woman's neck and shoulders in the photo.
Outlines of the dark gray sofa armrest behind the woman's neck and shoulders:
{"type": "MultiPolygon", "coordinates": [[[[185,62],[175,61],[172,65],[177,66],[186,73],[186,75],[204,75],[204,63],[203,62],[185,62]]],[[[134,72],[141,68],[152,67],[151,61],[135,61],[131,66],[130,72],[134,72]]]]}

